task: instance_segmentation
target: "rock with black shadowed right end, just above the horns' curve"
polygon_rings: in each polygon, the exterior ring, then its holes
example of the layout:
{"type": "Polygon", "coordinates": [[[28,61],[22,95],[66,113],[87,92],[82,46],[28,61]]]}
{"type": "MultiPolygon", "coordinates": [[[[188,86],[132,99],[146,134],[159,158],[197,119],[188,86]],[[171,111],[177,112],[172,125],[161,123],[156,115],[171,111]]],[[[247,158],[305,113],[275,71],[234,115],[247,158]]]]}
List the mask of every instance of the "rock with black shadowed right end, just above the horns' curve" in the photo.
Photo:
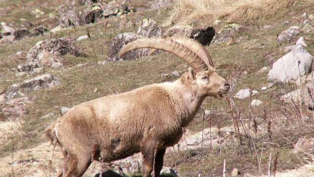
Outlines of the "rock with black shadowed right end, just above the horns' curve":
{"type": "Polygon", "coordinates": [[[174,26],[163,33],[164,37],[189,37],[202,45],[209,45],[214,35],[215,29],[212,27],[194,28],[192,26],[174,26]]]}

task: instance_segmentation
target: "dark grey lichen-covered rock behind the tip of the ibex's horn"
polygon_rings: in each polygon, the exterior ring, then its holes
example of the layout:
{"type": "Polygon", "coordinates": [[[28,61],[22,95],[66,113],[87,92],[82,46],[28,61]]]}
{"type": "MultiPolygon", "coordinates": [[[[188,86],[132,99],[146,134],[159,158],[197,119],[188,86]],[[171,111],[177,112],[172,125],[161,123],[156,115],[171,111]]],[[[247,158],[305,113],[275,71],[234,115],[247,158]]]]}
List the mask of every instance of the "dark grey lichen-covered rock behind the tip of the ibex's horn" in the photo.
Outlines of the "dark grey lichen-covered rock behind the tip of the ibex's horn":
{"type": "MultiPolygon", "coordinates": [[[[108,60],[111,61],[117,61],[118,54],[121,51],[122,47],[138,38],[142,38],[141,35],[137,35],[133,32],[126,32],[118,34],[115,38],[111,40],[110,46],[109,46],[109,55],[108,60]]],[[[140,57],[144,57],[148,55],[148,49],[136,49],[127,52],[122,59],[124,60],[130,60],[130,59],[137,59],[140,57]]]]}

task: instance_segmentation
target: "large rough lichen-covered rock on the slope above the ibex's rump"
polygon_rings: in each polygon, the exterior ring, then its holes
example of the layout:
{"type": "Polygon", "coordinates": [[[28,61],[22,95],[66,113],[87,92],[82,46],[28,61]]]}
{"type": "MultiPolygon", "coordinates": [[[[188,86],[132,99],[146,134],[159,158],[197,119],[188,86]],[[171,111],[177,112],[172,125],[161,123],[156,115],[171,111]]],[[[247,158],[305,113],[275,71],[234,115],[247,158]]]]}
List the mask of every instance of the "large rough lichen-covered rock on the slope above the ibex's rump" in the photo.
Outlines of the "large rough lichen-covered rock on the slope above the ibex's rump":
{"type": "MultiPolygon", "coordinates": [[[[46,54],[48,53],[46,52],[46,54]]],[[[54,38],[39,41],[35,46],[29,49],[26,63],[20,64],[18,66],[18,71],[31,72],[35,68],[44,67],[43,63],[45,63],[45,65],[48,67],[63,66],[65,62],[59,56],[65,54],[72,54],[74,56],[78,56],[80,54],[78,47],[76,47],[73,44],[72,39],[70,37],[54,38]],[[42,54],[42,56],[44,56],[43,54],[45,54],[43,53],[43,50],[48,51],[52,55],[50,56],[45,55],[46,57],[48,57],[48,59],[43,57],[40,58],[41,57],[40,54],[42,54]],[[62,63],[62,65],[60,63],[62,63]]]]}

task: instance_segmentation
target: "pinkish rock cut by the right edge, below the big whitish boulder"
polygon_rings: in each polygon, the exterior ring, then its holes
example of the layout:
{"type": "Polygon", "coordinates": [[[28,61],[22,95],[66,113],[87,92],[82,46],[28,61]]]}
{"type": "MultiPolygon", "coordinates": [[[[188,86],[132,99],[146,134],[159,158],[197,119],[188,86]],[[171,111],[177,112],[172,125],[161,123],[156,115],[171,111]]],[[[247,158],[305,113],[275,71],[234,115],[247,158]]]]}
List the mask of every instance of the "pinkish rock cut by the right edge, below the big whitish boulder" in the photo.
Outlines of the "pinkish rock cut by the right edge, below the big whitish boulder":
{"type": "Polygon", "coordinates": [[[301,87],[301,98],[309,109],[314,110],[314,80],[301,87]]]}

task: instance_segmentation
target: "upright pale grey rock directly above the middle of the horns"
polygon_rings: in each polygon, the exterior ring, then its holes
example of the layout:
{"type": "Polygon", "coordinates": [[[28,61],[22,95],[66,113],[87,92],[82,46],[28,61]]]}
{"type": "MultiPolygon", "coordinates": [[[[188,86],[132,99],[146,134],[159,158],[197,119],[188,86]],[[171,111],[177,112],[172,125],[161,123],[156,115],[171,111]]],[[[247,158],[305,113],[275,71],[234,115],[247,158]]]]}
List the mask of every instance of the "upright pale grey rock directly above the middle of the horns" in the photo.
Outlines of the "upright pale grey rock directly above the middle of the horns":
{"type": "Polygon", "coordinates": [[[154,20],[145,18],[140,21],[136,34],[145,37],[160,37],[162,35],[162,30],[154,20]]]}

